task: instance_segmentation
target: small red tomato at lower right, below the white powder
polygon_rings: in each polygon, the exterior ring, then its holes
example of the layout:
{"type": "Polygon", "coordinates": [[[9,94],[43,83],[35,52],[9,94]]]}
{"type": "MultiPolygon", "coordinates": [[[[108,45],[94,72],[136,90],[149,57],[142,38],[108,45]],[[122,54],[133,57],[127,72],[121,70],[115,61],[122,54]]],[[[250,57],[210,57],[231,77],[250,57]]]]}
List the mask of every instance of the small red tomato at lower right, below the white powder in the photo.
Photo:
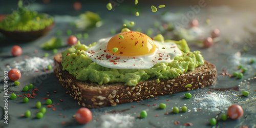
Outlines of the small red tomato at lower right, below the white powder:
{"type": "Polygon", "coordinates": [[[240,105],[234,104],[229,106],[227,115],[231,119],[240,119],[244,115],[244,110],[240,105]]]}

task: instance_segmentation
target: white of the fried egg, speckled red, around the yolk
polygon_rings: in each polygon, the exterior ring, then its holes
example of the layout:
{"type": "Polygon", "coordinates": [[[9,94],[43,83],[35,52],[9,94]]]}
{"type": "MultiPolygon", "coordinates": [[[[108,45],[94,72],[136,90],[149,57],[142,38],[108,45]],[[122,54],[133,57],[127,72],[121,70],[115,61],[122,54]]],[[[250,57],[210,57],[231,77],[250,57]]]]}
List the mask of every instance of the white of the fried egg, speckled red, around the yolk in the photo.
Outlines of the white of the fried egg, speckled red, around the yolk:
{"type": "Polygon", "coordinates": [[[174,42],[159,42],[154,40],[157,46],[156,51],[141,56],[120,56],[112,55],[106,51],[109,38],[100,39],[94,46],[85,53],[98,65],[112,69],[150,69],[156,63],[172,62],[176,56],[182,55],[181,50],[174,42]]]}

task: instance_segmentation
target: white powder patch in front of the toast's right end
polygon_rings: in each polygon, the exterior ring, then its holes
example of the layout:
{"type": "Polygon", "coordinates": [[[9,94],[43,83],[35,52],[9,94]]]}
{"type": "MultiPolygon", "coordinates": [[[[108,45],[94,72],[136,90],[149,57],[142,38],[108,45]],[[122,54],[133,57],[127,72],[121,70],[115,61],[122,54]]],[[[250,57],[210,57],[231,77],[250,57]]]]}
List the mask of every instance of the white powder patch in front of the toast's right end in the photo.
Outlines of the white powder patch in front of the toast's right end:
{"type": "Polygon", "coordinates": [[[199,108],[207,109],[211,112],[224,110],[231,105],[228,96],[215,92],[205,93],[202,97],[195,97],[193,102],[199,103],[199,108]]]}

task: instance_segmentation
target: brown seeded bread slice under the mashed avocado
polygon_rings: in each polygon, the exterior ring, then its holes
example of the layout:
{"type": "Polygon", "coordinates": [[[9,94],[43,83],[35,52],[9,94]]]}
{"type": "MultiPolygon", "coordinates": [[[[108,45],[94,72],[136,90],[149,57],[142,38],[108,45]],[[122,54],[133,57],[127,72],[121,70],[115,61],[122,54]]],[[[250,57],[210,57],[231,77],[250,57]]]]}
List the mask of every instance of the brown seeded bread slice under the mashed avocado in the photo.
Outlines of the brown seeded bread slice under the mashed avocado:
{"type": "Polygon", "coordinates": [[[211,86],[216,82],[216,67],[204,61],[204,65],[194,71],[182,73],[174,79],[156,79],[139,82],[135,87],[124,86],[123,83],[99,85],[92,82],[81,82],[68,71],[62,71],[61,54],[54,55],[54,74],[58,80],[78,101],[87,108],[115,106],[121,103],[149,99],[162,95],[174,94],[211,86]],[[191,87],[185,87],[187,84],[191,87]]]}

